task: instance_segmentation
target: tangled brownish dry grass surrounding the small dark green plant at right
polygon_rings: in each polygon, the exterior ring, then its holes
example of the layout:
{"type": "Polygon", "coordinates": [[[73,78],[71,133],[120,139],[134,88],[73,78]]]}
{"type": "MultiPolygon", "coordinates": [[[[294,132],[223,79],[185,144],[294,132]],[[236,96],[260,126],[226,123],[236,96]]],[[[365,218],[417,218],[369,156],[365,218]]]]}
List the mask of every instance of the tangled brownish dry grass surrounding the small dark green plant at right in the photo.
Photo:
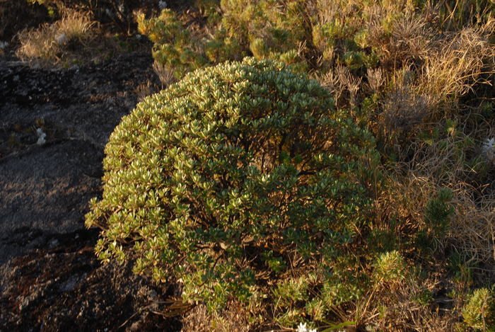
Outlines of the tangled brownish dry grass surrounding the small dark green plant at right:
{"type": "Polygon", "coordinates": [[[397,231],[410,234],[424,224],[424,208],[439,188],[451,188],[455,212],[438,245],[449,246],[474,261],[493,263],[495,187],[479,171],[489,169],[482,158],[476,159],[480,144],[464,134],[431,144],[417,143],[412,147],[412,161],[397,164],[395,171],[388,173],[389,189],[376,202],[377,219],[400,219],[402,229],[397,231]],[[470,166],[468,160],[478,161],[470,166]]]}

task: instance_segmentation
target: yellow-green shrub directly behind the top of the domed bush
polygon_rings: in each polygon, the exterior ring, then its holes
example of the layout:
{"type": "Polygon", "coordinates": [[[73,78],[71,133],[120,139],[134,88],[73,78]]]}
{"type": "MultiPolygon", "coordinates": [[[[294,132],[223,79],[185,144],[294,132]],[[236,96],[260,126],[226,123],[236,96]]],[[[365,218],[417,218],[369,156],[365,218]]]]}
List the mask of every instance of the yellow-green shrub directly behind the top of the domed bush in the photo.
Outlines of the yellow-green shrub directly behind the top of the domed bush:
{"type": "Polygon", "coordinates": [[[177,78],[246,55],[307,69],[301,52],[310,38],[310,26],[303,1],[290,0],[280,6],[272,0],[196,1],[195,6],[207,16],[207,30],[213,33],[198,33],[170,9],[158,17],[147,19],[144,13],[137,17],[139,32],[154,43],[153,57],[174,69],[177,78]]]}

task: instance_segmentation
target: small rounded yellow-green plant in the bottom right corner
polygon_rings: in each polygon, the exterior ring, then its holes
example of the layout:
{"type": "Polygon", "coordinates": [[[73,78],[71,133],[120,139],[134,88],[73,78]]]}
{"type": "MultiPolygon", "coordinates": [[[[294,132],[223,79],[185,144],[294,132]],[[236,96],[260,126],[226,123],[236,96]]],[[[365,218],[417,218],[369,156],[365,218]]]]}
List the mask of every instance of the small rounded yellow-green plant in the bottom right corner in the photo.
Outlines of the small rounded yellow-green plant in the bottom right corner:
{"type": "Polygon", "coordinates": [[[462,308],[464,322],[476,331],[495,331],[495,300],[487,288],[474,290],[462,308]]]}

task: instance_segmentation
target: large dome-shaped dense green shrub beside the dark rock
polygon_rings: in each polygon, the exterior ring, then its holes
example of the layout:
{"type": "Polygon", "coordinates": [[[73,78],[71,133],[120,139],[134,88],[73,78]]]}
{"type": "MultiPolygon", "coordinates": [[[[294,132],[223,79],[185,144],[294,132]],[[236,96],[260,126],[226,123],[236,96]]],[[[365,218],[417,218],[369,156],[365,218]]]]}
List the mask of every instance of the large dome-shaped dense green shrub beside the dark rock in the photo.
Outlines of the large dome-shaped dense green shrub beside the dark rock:
{"type": "Polygon", "coordinates": [[[248,58],[187,74],[110,137],[103,198],[86,216],[103,229],[98,257],[136,258],[136,273],[181,282],[183,299],[210,308],[254,294],[287,299],[281,310],[333,298],[322,293],[367,222],[376,157],[349,119],[283,64],[248,58]],[[287,285],[300,284],[289,300],[287,285]]]}

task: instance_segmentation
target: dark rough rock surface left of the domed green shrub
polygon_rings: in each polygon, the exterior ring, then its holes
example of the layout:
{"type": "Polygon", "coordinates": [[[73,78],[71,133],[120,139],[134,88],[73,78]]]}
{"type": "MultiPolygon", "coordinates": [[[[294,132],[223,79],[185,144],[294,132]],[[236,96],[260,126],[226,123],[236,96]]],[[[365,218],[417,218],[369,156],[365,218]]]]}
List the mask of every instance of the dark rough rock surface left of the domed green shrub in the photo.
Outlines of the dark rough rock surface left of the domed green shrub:
{"type": "Polygon", "coordinates": [[[161,314],[177,290],[102,265],[84,227],[110,133],[159,86],[152,62],[149,45],[65,69],[0,57],[0,331],[180,330],[161,314]]]}

